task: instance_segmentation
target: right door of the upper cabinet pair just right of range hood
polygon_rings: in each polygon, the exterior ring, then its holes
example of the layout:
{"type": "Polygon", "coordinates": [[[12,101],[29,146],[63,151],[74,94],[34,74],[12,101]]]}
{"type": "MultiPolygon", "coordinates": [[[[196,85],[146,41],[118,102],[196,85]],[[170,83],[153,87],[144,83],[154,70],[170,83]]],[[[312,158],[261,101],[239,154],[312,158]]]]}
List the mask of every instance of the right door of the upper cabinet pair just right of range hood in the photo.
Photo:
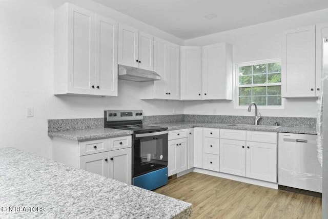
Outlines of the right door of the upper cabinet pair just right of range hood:
{"type": "Polygon", "coordinates": [[[169,98],[180,99],[180,46],[169,44],[169,98]]]}

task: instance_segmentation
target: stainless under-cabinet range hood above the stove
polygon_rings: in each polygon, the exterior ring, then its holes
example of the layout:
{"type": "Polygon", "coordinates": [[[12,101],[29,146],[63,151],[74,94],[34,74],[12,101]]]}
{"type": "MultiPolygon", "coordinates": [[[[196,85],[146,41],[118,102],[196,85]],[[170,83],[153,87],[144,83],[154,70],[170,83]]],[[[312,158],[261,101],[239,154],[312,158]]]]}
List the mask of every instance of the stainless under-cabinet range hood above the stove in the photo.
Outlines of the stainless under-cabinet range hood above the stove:
{"type": "Polygon", "coordinates": [[[133,82],[150,82],[160,80],[160,75],[154,71],[118,65],[118,79],[133,82]]]}

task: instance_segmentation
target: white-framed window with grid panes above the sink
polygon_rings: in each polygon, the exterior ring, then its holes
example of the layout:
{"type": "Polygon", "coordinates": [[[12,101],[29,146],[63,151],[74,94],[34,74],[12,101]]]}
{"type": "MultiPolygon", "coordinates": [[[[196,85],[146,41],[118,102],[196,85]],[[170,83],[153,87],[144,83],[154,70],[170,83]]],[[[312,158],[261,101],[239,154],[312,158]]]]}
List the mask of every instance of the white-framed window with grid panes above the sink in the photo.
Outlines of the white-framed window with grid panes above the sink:
{"type": "Polygon", "coordinates": [[[236,64],[236,85],[236,106],[281,106],[280,59],[236,64]]]}

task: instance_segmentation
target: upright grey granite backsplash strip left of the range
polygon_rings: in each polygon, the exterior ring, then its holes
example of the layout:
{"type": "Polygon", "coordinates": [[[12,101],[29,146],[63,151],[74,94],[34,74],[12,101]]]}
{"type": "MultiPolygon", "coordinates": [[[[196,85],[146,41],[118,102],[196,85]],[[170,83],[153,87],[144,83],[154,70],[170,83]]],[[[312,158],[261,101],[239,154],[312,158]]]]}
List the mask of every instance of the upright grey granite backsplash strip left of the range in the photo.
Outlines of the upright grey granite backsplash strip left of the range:
{"type": "Polygon", "coordinates": [[[48,120],[48,132],[104,128],[104,118],[69,118],[48,120]]]}

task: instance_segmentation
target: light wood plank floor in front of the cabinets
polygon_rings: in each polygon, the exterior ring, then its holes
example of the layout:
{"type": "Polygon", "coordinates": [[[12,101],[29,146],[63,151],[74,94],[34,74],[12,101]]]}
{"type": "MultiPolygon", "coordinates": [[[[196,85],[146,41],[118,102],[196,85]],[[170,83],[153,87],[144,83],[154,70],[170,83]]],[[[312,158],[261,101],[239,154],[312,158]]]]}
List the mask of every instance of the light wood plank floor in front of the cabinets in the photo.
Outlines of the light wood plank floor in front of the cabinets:
{"type": "Polygon", "coordinates": [[[156,189],[192,203],[191,218],[321,218],[321,198],[189,173],[156,189]]]}

